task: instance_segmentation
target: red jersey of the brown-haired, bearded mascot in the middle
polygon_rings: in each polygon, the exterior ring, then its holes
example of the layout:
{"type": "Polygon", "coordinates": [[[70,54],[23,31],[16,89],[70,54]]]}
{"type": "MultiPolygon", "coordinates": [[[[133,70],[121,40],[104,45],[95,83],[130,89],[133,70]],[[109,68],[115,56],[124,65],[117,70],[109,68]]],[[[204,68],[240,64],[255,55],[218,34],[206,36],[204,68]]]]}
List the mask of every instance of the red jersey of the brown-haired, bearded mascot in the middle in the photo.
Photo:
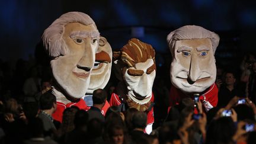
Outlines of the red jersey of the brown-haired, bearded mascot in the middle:
{"type": "MultiPolygon", "coordinates": [[[[152,97],[151,97],[151,103],[154,101],[154,96],[152,92],[152,97]]],[[[113,93],[110,98],[110,106],[118,106],[121,104],[121,100],[119,99],[119,95],[113,93]]],[[[153,107],[151,110],[148,112],[148,123],[147,124],[152,124],[154,122],[154,117],[153,117],[153,107]]]]}

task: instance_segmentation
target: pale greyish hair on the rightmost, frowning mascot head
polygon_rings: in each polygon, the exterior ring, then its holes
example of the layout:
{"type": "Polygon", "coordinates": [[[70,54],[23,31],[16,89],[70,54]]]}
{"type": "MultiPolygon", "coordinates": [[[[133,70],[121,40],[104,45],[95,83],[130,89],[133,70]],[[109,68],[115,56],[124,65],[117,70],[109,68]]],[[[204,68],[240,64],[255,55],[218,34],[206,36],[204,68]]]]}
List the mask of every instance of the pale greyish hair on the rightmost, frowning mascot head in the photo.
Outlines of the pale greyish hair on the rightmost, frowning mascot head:
{"type": "Polygon", "coordinates": [[[197,25],[185,25],[172,31],[167,36],[167,43],[171,50],[172,56],[174,55],[174,44],[176,40],[191,40],[191,39],[204,39],[209,38],[212,41],[213,53],[219,44],[219,36],[203,27],[197,25]]]}

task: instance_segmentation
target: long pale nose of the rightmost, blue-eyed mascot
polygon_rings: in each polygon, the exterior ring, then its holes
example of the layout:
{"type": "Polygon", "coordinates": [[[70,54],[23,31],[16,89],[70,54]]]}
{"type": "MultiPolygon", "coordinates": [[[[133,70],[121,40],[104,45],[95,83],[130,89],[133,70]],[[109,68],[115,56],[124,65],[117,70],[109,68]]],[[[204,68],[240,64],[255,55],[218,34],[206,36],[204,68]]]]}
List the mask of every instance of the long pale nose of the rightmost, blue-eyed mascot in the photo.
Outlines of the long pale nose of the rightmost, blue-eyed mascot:
{"type": "Polygon", "coordinates": [[[194,84],[200,76],[199,60],[196,55],[191,55],[188,83],[194,84]]]}

